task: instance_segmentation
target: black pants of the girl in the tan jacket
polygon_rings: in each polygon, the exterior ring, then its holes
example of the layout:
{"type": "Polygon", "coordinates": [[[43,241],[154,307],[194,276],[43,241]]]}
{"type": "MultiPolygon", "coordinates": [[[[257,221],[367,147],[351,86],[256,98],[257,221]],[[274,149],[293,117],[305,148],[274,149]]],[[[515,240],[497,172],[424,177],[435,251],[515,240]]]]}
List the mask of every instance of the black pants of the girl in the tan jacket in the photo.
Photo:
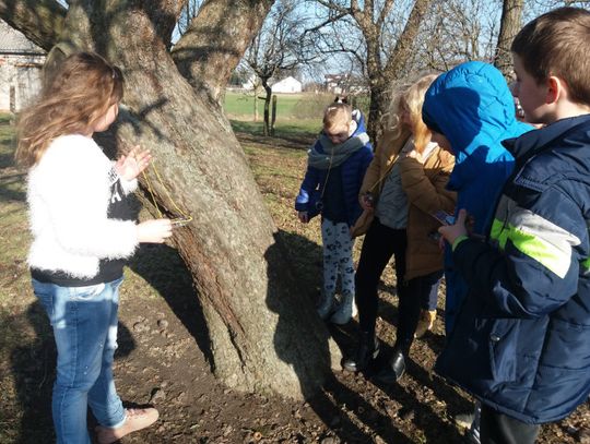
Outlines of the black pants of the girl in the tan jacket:
{"type": "Polygon", "coordinates": [[[355,276],[355,301],[358,308],[361,331],[368,333],[369,337],[375,335],[377,321],[379,302],[377,286],[391,256],[396,259],[397,289],[400,301],[408,289],[403,280],[406,244],[405,229],[386,227],[378,218],[373,220],[365,235],[355,276]]]}

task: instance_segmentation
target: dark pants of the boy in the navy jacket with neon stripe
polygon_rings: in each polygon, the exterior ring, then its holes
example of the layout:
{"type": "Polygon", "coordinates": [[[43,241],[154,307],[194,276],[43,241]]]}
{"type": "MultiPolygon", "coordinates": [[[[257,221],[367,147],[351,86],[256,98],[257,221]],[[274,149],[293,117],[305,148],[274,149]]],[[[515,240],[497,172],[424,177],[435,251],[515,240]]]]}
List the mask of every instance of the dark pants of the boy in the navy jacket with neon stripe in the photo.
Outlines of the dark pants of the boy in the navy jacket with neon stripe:
{"type": "Polygon", "coordinates": [[[482,405],[480,440],[482,444],[533,444],[541,425],[528,424],[482,405]]]}

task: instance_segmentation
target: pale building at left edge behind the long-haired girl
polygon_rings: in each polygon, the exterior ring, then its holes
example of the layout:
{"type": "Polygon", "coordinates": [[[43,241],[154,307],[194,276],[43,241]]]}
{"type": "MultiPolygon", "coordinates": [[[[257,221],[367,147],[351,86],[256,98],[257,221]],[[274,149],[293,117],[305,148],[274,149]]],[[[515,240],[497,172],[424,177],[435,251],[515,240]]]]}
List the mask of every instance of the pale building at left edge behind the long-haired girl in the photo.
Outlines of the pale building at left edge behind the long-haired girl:
{"type": "Polygon", "coordinates": [[[46,52],[0,20],[0,110],[19,111],[40,89],[46,52]]]}

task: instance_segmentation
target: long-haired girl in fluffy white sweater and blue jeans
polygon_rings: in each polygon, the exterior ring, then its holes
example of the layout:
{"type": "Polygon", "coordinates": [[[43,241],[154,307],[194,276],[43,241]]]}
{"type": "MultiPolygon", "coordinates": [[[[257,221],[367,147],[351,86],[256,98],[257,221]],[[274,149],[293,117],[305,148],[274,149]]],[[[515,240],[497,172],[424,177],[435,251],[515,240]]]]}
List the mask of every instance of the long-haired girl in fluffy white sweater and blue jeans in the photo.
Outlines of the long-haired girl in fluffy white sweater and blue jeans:
{"type": "Polygon", "coordinates": [[[19,125],[16,160],[28,168],[33,289],[57,345],[52,416],[58,443],[113,443],[157,419],[125,409],[113,379],[118,289],[125,260],[140,242],[163,242],[168,219],[137,224],[128,194],[150,154],[134,147],[111,163],[94,142],[117,119],[121,71],[96,53],[67,58],[19,125]]]}

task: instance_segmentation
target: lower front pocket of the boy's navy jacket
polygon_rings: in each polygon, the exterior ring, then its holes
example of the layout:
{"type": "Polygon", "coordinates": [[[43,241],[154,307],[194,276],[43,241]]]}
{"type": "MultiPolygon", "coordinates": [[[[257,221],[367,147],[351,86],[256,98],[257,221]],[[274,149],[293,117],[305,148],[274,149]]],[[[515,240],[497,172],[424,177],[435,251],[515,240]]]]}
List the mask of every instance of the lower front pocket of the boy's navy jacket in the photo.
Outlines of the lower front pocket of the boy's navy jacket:
{"type": "Polygon", "coordinates": [[[517,346],[520,320],[494,321],[488,336],[489,364],[494,381],[508,382],[517,379],[517,346]]]}

